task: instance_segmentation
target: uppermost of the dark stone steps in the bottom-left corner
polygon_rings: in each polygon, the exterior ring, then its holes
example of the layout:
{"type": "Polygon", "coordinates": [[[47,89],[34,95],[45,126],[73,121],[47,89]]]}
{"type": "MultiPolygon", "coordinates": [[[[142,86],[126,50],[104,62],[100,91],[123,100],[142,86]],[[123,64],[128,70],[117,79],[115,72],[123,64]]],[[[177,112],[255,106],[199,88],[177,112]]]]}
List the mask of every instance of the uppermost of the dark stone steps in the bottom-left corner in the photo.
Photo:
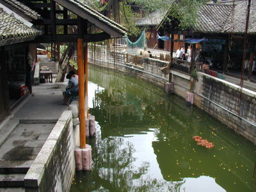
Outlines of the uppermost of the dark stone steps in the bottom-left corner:
{"type": "Polygon", "coordinates": [[[26,174],[33,160],[29,161],[0,161],[0,174],[24,173],[26,174]]]}

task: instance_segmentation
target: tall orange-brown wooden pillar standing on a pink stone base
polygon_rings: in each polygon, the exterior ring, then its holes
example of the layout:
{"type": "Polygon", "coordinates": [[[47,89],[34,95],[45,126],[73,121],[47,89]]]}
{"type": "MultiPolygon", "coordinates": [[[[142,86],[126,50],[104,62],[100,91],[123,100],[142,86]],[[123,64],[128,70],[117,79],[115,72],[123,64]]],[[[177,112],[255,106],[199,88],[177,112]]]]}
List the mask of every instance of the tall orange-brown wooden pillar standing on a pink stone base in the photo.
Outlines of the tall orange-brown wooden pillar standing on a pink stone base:
{"type": "Polygon", "coordinates": [[[77,39],[77,64],[79,82],[79,132],[80,148],[86,147],[85,138],[85,113],[84,113],[84,61],[83,61],[83,39],[77,39]]]}

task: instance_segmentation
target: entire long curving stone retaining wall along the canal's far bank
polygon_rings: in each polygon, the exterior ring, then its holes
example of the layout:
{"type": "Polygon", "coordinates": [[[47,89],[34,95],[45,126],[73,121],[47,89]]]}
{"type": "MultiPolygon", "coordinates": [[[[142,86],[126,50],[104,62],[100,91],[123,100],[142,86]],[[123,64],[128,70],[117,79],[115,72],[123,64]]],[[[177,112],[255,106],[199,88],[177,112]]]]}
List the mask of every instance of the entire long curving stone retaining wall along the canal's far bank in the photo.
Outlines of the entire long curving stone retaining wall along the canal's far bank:
{"type": "MultiPolygon", "coordinates": [[[[99,48],[100,51],[104,50],[99,48]]],[[[106,51],[106,50],[105,50],[106,51]]],[[[100,67],[109,68],[123,72],[124,74],[154,83],[164,88],[169,76],[161,72],[160,68],[166,65],[166,61],[143,58],[143,67],[131,63],[131,58],[122,52],[115,52],[109,56],[102,56],[97,52],[90,51],[89,63],[100,67]],[[100,56],[99,56],[100,55],[100,56]],[[125,62],[129,61],[129,62],[125,62]]],[[[171,70],[173,92],[180,97],[186,98],[189,91],[190,76],[177,70],[171,70]]],[[[194,104],[214,116],[231,129],[241,134],[244,138],[256,144],[256,93],[243,89],[240,96],[239,86],[228,83],[222,79],[198,72],[198,81],[195,83],[193,92],[195,93],[194,104]],[[239,98],[241,97],[241,106],[239,98]]]]}

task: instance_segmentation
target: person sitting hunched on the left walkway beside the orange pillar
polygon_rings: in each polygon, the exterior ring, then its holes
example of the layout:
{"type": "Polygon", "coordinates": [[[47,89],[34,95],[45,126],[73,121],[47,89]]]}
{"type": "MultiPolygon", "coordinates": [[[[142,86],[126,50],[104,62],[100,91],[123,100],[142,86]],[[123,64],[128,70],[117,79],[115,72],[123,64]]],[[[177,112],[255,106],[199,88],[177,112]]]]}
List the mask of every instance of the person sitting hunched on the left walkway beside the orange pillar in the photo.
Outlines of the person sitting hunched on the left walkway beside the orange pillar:
{"type": "Polygon", "coordinates": [[[72,95],[78,95],[78,79],[76,77],[72,77],[72,74],[70,73],[67,74],[66,78],[69,79],[69,81],[66,90],[63,92],[63,97],[65,104],[68,104],[72,95]]]}

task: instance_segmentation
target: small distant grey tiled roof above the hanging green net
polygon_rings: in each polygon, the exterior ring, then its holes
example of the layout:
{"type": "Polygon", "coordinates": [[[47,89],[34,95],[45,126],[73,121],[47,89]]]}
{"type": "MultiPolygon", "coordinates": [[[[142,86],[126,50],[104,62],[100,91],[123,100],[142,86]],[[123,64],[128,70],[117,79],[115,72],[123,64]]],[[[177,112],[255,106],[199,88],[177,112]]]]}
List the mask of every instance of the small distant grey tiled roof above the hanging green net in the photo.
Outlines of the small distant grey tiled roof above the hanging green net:
{"type": "Polygon", "coordinates": [[[135,24],[136,26],[158,26],[165,14],[166,11],[157,10],[156,12],[149,13],[146,17],[141,18],[135,24]]]}

